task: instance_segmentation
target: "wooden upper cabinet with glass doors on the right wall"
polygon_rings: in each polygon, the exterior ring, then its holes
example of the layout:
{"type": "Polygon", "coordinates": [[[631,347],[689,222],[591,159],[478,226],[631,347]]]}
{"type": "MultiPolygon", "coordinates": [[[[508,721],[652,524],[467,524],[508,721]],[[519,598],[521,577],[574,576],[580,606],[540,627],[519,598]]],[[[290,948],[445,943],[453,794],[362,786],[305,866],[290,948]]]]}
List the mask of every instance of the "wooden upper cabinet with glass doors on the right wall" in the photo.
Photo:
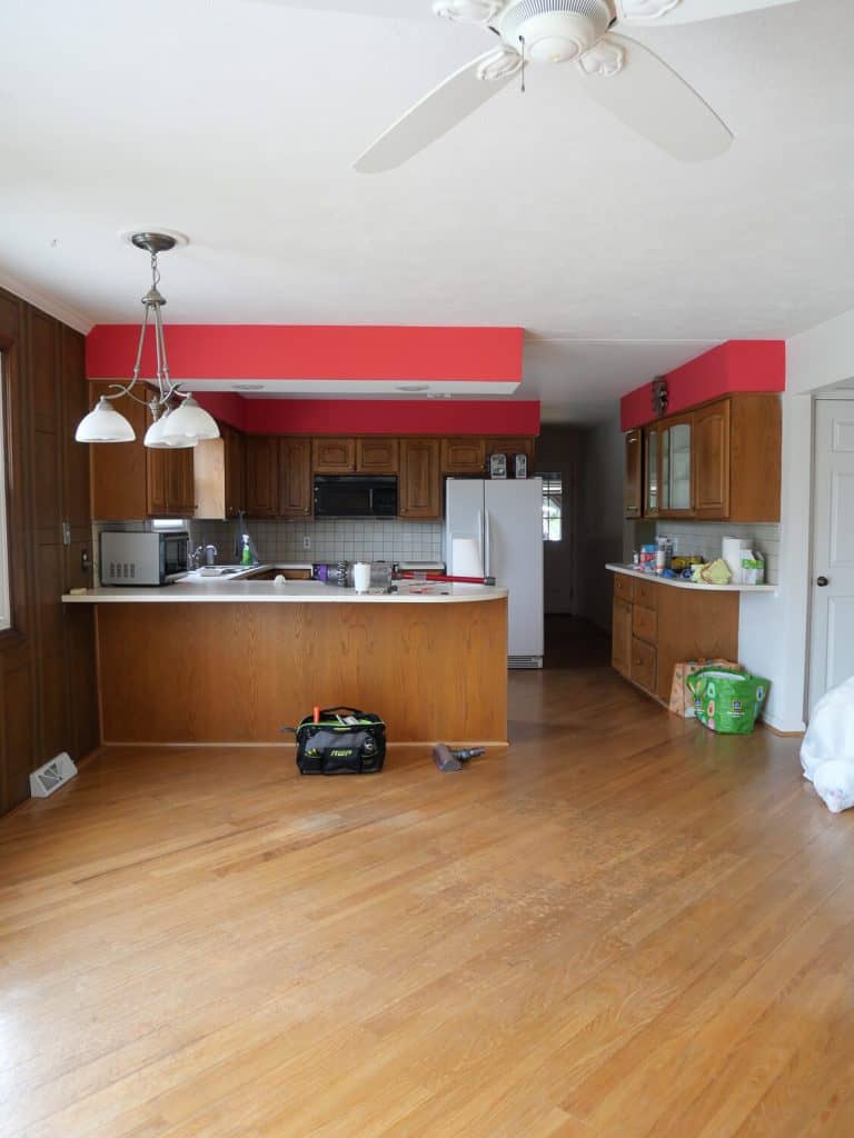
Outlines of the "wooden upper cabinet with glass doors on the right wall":
{"type": "MultiPolygon", "coordinates": [[[[631,432],[633,434],[633,432],[631,432]]],[[[626,517],[635,462],[626,436],[626,517]]],[[[738,394],[643,430],[643,516],[779,521],[781,411],[777,395],[738,394]]]]}

